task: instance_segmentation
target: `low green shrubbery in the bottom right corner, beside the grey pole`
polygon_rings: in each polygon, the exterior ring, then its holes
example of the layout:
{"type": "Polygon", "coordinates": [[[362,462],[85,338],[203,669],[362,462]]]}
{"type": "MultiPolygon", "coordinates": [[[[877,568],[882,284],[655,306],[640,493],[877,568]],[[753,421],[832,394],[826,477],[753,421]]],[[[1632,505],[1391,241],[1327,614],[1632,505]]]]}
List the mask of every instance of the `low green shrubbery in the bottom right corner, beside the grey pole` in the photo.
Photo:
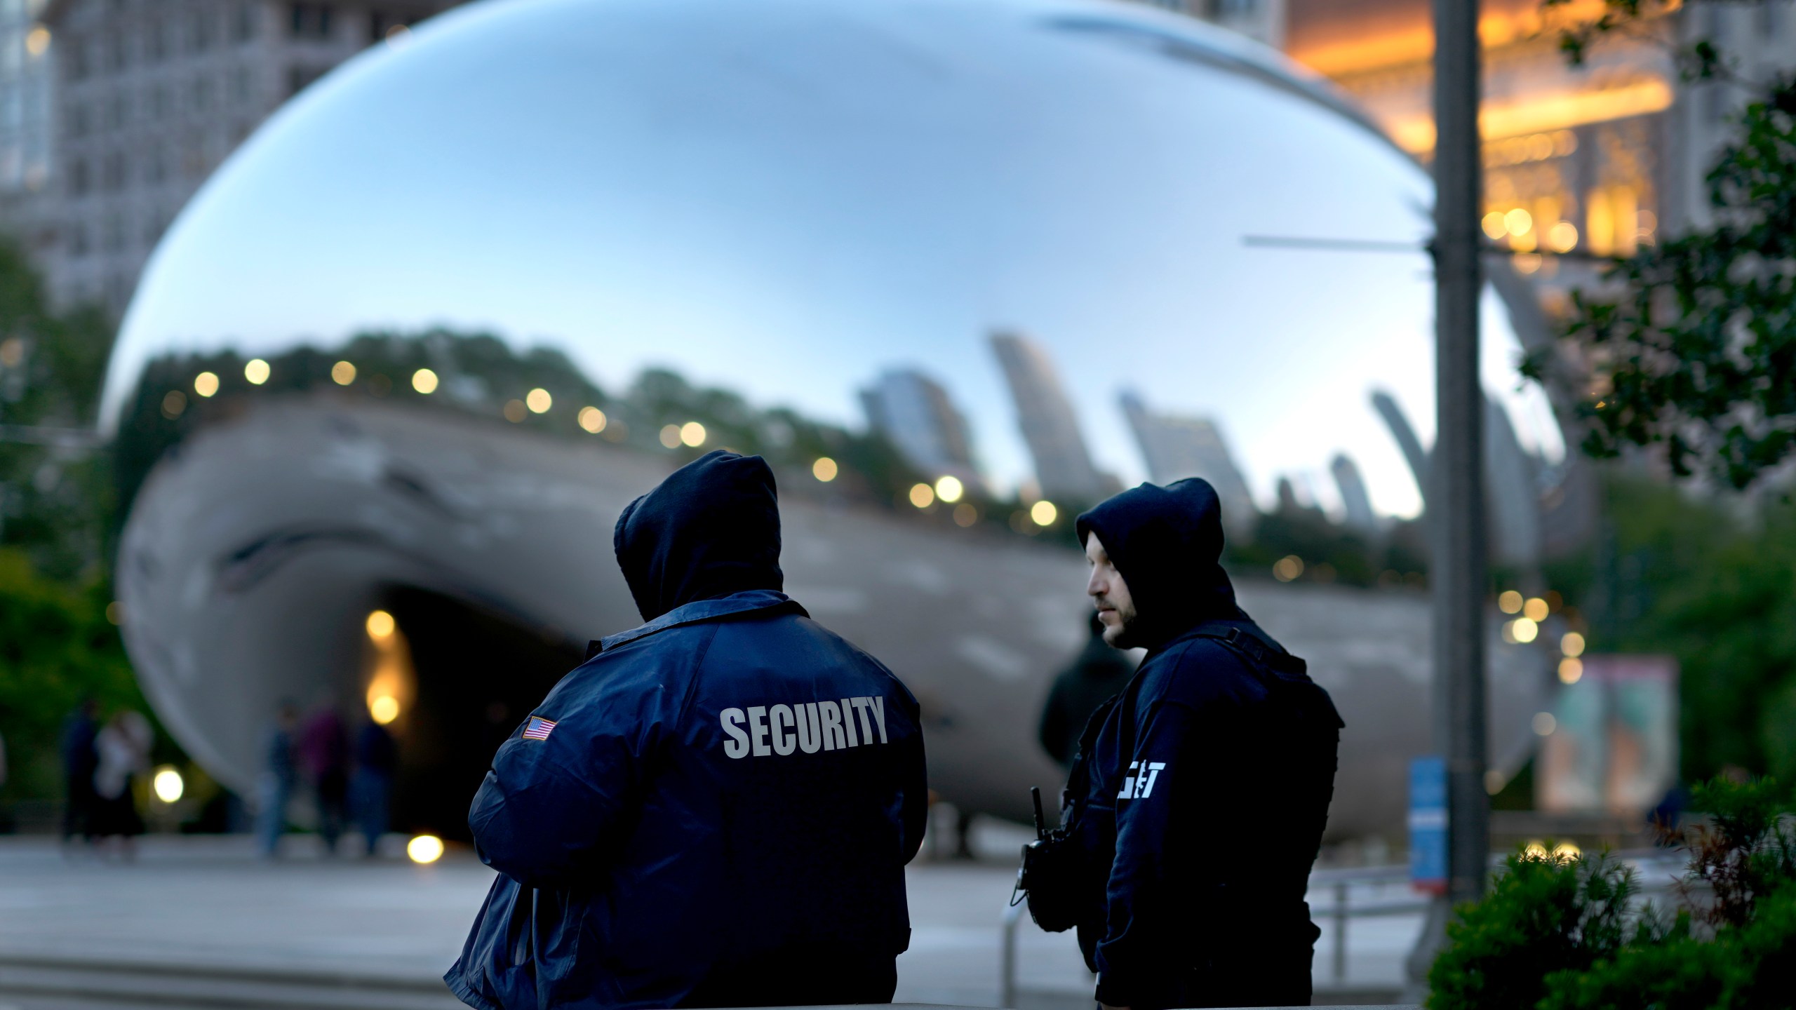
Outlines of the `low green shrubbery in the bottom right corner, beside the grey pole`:
{"type": "Polygon", "coordinates": [[[1428,974],[1431,1010],[1771,1010],[1796,1006],[1796,830],[1769,778],[1695,789],[1706,818],[1672,915],[1631,911],[1607,855],[1516,854],[1460,906],[1428,974]],[[1701,924],[1701,929],[1697,929],[1701,924]]]}

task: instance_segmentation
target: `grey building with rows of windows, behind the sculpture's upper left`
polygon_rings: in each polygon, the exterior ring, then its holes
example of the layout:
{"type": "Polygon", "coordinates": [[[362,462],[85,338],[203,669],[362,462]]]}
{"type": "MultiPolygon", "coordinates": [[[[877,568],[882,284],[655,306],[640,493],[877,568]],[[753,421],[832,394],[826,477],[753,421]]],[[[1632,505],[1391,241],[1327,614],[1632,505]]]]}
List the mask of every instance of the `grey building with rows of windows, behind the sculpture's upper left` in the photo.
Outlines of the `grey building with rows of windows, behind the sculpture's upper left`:
{"type": "MultiPolygon", "coordinates": [[[[119,315],[163,230],[257,124],[338,63],[451,4],[36,5],[38,23],[22,36],[0,22],[5,52],[20,36],[31,70],[13,75],[0,65],[0,110],[25,108],[31,124],[41,106],[54,147],[38,162],[22,155],[31,194],[16,201],[9,225],[43,270],[54,304],[97,302],[119,315]],[[40,70],[45,58],[54,72],[40,70]]],[[[0,9],[18,7],[13,0],[0,9]]],[[[20,137],[31,151],[31,129],[20,137]]],[[[0,169],[4,156],[0,147],[0,169]]]]}

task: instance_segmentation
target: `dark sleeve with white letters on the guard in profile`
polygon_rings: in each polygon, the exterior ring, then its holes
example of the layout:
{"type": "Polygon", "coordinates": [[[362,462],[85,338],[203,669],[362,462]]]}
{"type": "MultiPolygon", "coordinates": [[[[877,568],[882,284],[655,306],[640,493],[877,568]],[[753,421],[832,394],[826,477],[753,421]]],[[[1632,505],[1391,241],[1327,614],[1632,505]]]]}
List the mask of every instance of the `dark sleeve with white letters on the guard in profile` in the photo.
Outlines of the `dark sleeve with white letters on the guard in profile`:
{"type": "Polygon", "coordinates": [[[1175,803],[1189,805],[1209,762],[1196,753],[1198,713],[1160,701],[1139,715],[1135,753],[1115,798],[1115,861],[1106,884],[1106,922],[1097,944],[1097,999],[1110,1006],[1176,999],[1166,992],[1180,963],[1184,924],[1203,909],[1180,908],[1180,864],[1202,861],[1200,839],[1171,837],[1175,803]],[[1178,861],[1176,864],[1173,861],[1178,861]]]}

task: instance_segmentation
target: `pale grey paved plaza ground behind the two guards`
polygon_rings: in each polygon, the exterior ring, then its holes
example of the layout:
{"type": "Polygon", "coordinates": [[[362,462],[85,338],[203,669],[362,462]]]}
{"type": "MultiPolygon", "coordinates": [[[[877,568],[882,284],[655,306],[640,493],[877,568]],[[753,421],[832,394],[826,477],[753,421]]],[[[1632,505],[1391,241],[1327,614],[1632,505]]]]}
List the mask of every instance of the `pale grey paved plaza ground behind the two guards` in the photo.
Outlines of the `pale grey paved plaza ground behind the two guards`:
{"type": "MultiPolygon", "coordinates": [[[[981,859],[920,859],[911,868],[914,933],[898,961],[898,1001],[1000,1003],[1008,854],[1022,837],[1020,828],[991,825],[977,834],[981,859]]],[[[289,843],[295,855],[268,864],[251,857],[244,837],[147,837],[136,861],[124,864],[65,859],[48,839],[0,839],[0,1010],[167,1008],[181,1003],[158,988],[169,972],[239,979],[232,983],[239,988],[194,997],[208,1006],[305,1003],[257,996],[269,979],[287,978],[390,985],[399,996],[383,1006],[454,1006],[431,979],[460,951],[490,870],[454,848],[433,866],[413,866],[399,857],[327,861],[307,850],[316,845],[309,837],[289,843]],[[66,981],[83,972],[101,978],[104,965],[135,974],[106,983],[111,988],[66,981]]],[[[1413,917],[1356,920],[1349,985],[1395,987],[1417,926],[1413,917]]],[[[1329,933],[1324,922],[1318,987],[1338,988],[1327,978],[1329,933]]],[[[1092,979],[1070,933],[1047,935],[1024,918],[1017,940],[1020,1006],[1088,1005],[1092,979]]]]}

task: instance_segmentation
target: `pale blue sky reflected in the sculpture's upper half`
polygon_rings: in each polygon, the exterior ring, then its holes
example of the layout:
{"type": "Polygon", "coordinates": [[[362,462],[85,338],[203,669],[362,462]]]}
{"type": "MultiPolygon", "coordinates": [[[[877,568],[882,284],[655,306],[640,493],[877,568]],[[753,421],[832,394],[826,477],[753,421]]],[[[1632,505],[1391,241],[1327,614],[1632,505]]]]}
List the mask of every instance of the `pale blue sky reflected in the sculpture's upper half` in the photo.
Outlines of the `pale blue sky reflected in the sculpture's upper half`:
{"type": "MultiPolygon", "coordinates": [[[[1015,487],[1034,467],[982,347],[1008,329],[1047,349],[1124,483],[1146,476],[1115,408],[1137,388],[1219,417],[1261,507],[1349,451],[1374,507],[1413,516],[1367,395],[1430,437],[1426,259],[1241,239],[1419,237],[1426,176],[1293,81],[1243,40],[1083,4],[474,5],[325,79],[208,183],[108,403],[158,347],[438,323],[551,341],[607,388],[672,363],[841,424],[871,376],[923,365],[1015,487]],[[589,66],[505,70],[568,49],[551,22],[589,66]],[[469,61],[492,66],[478,95],[451,70],[469,61]]],[[[1557,455],[1494,302],[1491,331],[1492,395],[1557,455]]]]}

